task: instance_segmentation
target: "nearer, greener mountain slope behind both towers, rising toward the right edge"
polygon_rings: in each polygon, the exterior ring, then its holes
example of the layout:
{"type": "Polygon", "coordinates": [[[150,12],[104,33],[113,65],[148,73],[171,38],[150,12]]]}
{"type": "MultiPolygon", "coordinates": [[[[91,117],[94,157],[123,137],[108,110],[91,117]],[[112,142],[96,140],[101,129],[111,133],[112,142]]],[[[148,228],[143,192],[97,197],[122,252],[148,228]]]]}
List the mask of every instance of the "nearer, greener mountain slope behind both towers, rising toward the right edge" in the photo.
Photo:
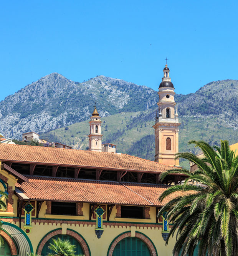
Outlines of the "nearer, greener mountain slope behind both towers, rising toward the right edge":
{"type": "MultiPolygon", "coordinates": [[[[218,145],[220,139],[230,144],[238,141],[238,80],[211,82],[197,92],[176,94],[180,125],[179,151],[197,149],[187,142],[191,139],[205,140],[218,145]]],[[[154,160],[154,116],[157,107],[144,111],[121,112],[104,117],[102,123],[103,142],[117,144],[117,151],[154,160]]],[[[62,141],[75,148],[88,147],[88,120],[42,134],[51,141],[62,141]]],[[[181,165],[188,167],[187,163],[181,165]]]]}

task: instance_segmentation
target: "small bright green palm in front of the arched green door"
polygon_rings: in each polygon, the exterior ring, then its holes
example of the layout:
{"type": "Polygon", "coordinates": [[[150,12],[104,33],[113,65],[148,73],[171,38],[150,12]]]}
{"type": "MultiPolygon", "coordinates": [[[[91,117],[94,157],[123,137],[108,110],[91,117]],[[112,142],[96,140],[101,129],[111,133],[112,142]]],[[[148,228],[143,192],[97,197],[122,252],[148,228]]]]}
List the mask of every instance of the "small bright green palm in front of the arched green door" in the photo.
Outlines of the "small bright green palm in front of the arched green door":
{"type": "MultiPolygon", "coordinates": [[[[48,254],[48,256],[76,256],[74,253],[75,245],[71,244],[69,240],[61,240],[60,238],[52,239],[52,242],[48,248],[53,251],[53,253],[48,254]]],[[[84,256],[84,255],[79,255],[84,256]]]]}

